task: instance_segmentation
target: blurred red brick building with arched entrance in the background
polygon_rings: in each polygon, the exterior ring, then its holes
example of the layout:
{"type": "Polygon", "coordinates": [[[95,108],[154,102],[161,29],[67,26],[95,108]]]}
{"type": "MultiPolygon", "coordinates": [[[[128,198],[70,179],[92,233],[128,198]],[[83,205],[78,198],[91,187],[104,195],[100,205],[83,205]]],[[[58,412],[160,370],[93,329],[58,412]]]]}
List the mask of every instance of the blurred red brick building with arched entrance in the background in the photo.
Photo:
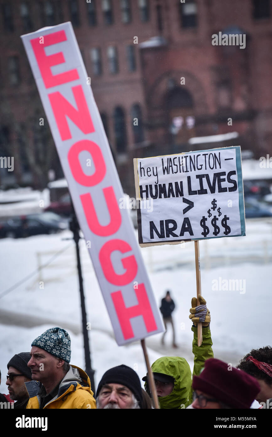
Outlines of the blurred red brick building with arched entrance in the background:
{"type": "Polygon", "coordinates": [[[0,0],[0,10],[0,155],[14,156],[2,182],[61,177],[20,35],[65,21],[124,191],[134,194],[133,157],[191,150],[194,136],[236,131],[233,144],[271,151],[272,0],[0,0]],[[245,48],[212,45],[219,32],[246,35],[245,48]]]}

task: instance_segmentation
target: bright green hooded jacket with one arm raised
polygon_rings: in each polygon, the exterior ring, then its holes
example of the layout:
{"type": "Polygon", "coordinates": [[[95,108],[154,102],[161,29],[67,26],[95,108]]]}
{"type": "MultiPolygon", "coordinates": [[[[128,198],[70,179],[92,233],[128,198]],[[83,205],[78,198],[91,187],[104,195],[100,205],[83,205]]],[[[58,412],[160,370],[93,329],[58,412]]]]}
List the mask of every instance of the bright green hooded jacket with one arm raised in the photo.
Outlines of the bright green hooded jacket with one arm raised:
{"type": "MultiPolygon", "coordinates": [[[[210,327],[202,328],[202,344],[197,346],[197,327],[192,326],[194,333],[193,354],[194,354],[194,375],[199,375],[204,363],[208,358],[213,358],[210,327]]],[[[163,373],[172,376],[175,380],[174,388],[170,395],[159,397],[161,409],[184,409],[192,403],[192,374],[190,366],[181,357],[161,357],[152,366],[153,372],[163,373]]]]}

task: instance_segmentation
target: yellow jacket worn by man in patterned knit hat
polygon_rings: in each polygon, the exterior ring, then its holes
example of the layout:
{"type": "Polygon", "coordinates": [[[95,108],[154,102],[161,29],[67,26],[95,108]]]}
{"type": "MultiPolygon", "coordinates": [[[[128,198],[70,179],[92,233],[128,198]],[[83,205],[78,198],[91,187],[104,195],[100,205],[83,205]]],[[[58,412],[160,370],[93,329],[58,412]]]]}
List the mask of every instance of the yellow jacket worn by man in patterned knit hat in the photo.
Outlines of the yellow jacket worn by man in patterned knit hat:
{"type": "MultiPolygon", "coordinates": [[[[25,386],[29,395],[27,408],[39,409],[41,405],[39,396],[41,382],[29,381],[25,382],[25,386]]],[[[90,378],[85,371],[70,365],[70,369],[60,383],[58,395],[51,399],[44,408],[95,409],[96,403],[91,390],[90,378]]]]}

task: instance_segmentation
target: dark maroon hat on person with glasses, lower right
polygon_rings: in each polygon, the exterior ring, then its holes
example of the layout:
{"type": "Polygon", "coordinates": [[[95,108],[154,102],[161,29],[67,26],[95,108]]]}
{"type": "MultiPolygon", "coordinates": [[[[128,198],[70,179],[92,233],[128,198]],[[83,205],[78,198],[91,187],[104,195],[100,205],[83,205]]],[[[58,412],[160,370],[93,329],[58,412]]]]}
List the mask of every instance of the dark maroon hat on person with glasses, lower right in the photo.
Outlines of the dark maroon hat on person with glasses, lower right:
{"type": "Polygon", "coordinates": [[[194,376],[194,390],[201,390],[232,408],[250,408],[261,390],[256,378],[243,370],[232,368],[224,361],[210,358],[205,361],[199,376],[194,376]]]}

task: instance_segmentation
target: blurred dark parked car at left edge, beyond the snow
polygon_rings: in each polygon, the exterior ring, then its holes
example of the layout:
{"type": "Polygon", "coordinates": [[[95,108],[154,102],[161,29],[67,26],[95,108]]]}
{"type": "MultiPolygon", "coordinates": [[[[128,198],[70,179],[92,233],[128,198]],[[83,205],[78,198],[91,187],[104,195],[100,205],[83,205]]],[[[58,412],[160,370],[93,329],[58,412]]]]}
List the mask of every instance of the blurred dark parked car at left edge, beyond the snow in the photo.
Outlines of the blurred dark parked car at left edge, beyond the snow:
{"type": "Polygon", "coordinates": [[[21,215],[0,221],[0,238],[22,238],[54,234],[68,228],[68,223],[54,212],[21,215]]]}

